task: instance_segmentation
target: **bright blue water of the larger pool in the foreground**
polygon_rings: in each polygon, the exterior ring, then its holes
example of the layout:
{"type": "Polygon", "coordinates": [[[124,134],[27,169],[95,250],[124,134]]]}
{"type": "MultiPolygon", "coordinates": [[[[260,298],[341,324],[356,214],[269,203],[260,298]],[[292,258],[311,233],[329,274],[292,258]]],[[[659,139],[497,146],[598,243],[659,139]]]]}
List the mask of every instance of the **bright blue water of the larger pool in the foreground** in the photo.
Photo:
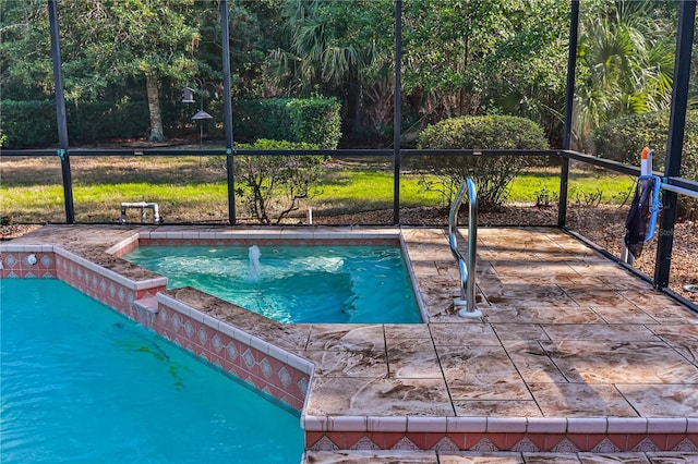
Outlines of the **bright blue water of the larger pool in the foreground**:
{"type": "Polygon", "coordinates": [[[0,280],[2,463],[298,463],[297,415],[52,279],[0,280]]]}

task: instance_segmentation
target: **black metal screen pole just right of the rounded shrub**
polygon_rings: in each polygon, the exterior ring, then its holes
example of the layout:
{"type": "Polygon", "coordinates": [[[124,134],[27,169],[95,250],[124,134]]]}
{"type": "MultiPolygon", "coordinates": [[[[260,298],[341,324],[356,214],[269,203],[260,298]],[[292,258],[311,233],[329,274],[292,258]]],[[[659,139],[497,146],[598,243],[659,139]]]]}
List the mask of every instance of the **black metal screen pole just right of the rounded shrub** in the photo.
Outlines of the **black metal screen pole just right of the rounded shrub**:
{"type": "MultiPolygon", "coordinates": [[[[565,129],[563,148],[571,148],[571,110],[575,101],[575,74],[577,71],[577,39],[579,34],[579,0],[571,1],[569,16],[569,51],[567,53],[567,88],[565,90],[565,129]]],[[[561,158],[559,199],[557,205],[557,225],[567,223],[567,187],[569,184],[569,158],[561,158]]]]}

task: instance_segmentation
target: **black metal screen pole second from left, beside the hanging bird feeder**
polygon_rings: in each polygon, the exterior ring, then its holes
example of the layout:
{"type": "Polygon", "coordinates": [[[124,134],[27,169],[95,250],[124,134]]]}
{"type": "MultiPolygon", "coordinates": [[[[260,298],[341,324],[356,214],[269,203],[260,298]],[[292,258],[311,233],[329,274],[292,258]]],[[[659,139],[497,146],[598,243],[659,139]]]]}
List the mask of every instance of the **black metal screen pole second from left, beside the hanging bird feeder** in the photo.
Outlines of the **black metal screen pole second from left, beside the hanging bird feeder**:
{"type": "Polygon", "coordinates": [[[232,159],[232,96],[230,95],[230,28],[228,1],[220,1],[220,41],[222,44],[222,95],[226,126],[226,171],[228,173],[228,220],[236,223],[236,185],[232,159]]]}

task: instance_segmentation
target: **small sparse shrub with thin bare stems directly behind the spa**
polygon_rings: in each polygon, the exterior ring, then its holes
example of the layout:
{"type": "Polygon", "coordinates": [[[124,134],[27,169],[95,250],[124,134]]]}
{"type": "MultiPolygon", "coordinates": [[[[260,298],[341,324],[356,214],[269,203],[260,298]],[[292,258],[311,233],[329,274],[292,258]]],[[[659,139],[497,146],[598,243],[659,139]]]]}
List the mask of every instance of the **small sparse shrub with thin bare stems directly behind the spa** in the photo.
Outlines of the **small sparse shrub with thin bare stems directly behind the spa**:
{"type": "MultiPolygon", "coordinates": [[[[238,148],[313,150],[317,145],[287,141],[260,139],[238,148]]],[[[246,188],[238,190],[250,213],[260,222],[276,223],[300,208],[303,199],[317,192],[323,157],[315,155],[238,155],[234,158],[236,179],[246,188]]]]}

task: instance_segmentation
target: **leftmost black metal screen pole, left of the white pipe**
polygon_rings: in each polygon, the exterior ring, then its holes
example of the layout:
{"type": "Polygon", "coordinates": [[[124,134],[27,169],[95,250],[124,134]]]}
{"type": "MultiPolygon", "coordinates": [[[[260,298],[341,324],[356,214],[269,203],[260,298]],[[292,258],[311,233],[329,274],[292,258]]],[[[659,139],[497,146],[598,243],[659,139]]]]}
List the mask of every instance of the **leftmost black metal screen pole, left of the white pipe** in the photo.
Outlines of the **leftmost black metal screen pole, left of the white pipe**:
{"type": "Polygon", "coordinates": [[[65,121],[65,93],[63,90],[63,69],[61,62],[61,45],[58,28],[57,0],[48,0],[48,21],[51,35],[51,59],[53,61],[53,85],[56,94],[56,121],[58,125],[58,156],[61,159],[61,174],[63,178],[63,198],[65,204],[65,222],[75,222],[75,207],[73,205],[73,181],[70,173],[70,157],[68,156],[68,122],[65,121]]]}

